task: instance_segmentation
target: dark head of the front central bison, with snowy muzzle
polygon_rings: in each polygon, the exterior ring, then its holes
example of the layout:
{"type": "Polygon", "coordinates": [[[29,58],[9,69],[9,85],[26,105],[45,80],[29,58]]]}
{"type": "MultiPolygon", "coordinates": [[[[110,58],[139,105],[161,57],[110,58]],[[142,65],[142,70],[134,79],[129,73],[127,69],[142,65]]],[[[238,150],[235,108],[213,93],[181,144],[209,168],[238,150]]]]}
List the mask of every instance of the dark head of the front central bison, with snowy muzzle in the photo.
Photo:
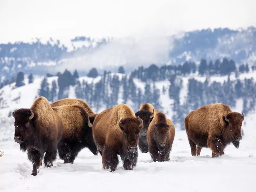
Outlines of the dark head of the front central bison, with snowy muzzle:
{"type": "Polygon", "coordinates": [[[139,143],[139,133],[143,120],[140,117],[123,118],[119,122],[119,127],[123,131],[124,150],[131,154],[137,153],[137,145],[139,143]]]}

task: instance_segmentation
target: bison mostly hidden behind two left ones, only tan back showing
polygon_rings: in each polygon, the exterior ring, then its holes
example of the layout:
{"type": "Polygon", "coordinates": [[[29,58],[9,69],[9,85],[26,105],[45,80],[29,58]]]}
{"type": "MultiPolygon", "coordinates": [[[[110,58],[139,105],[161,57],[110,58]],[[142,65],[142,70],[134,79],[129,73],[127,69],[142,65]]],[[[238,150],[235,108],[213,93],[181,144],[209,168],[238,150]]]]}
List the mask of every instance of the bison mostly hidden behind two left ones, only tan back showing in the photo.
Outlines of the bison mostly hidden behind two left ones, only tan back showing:
{"type": "Polygon", "coordinates": [[[51,103],[52,107],[59,107],[59,106],[62,106],[62,105],[79,105],[79,106],[81,106],[85,109],[85,111],[87,112],[87,114],[89,116],[91,116],[91,117],[94,116],[95,117],[97,115],[92,111],[90,106],[81,99],[66,98],[66,99],[61,99],[61,100],[58,100],[58,101],[55,101],[55,102],[51,103]]]}

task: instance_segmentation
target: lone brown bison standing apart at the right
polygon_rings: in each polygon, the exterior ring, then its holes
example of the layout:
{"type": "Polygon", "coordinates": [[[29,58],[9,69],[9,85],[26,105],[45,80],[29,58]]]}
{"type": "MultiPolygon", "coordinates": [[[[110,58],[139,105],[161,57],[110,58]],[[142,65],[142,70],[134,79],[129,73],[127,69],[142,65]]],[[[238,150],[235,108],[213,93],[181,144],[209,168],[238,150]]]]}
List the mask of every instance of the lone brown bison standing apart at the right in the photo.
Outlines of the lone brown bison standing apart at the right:
{"type": "Polygon", "coordinates": [[[212,157],[224,155],[231,142],[239,148],[244,114],[233,112],[229,106],[215,103],[191,111],[185,118],[185,128],[191,155],[200,155],[201,149],[211,148],[212,157]]]}

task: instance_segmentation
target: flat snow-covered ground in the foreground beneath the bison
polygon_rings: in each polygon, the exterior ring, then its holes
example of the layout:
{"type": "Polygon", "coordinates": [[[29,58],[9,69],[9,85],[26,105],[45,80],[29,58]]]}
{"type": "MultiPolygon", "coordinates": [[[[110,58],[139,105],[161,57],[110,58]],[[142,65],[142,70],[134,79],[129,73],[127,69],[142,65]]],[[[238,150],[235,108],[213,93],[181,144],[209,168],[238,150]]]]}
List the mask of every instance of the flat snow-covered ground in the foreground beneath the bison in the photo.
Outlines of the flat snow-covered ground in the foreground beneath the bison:
{"type": "MultiPolygon", "coordinates": [[[[74,164],[59,158],[53,167],[38,169],[30,175],[32,164],[26,153],[12,141],[0,142],[1,191],[256,191],[256,140],[254,115],[245,117],[245,136],[240,148],[225,149],[225,156],[212,158],[203,148],[201,156],[192,157],[186,132],[176,131],[168,162],[152,162],[149,154],[139,153],[134,170],[124,170],[119,163],[115,172],[102,169],[101,156],[83,149],[74,164]]],[[[10,127],[12,129],[12,127],[10,127]]]]}

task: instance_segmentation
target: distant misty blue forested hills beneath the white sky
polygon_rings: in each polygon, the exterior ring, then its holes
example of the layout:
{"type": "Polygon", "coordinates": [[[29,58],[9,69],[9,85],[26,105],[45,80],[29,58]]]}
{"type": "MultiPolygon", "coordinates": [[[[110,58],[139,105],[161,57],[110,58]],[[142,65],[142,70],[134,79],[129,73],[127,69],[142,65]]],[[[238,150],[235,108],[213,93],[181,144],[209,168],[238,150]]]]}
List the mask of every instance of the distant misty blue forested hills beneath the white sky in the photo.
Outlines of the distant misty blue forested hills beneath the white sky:
{"type": "Polygon", "coordinates": [[[241,30],[210,29],[183,33],[162,38],[122,39],[76,37],[74,39],[32,39],[30,42],[0,44],[0,71],[12,76],[18,71],[38,75],[56,74],[65,68],[87,72],[91,66],[116,70],[134,66],[180,64],[185,61],[198,63],[206,60],[233,59],[238,65],[255,64],[256,28],[241,30]]]}

